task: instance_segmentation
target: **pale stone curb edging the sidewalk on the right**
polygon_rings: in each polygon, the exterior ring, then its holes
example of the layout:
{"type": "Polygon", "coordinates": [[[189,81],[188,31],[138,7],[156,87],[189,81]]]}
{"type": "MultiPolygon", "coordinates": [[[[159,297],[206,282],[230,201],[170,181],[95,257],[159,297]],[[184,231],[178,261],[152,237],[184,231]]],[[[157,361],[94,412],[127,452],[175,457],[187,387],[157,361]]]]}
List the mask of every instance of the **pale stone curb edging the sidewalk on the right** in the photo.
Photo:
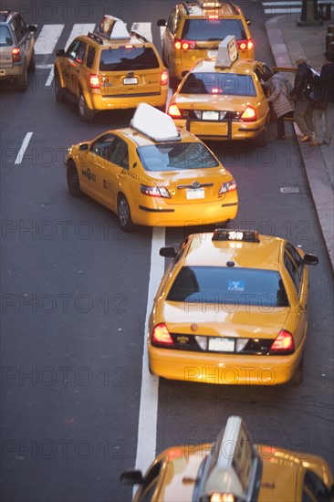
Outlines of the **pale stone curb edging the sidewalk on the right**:
{"type": "MultiPolygon", "coordinates": [[[[291,67],[287,46],[281,30],[278,28],[278,21],[281,17],[283,16],[273,17],[266,21],[266,34],[276,65],[291,67]]],[[[295,123],[294,129],[297,141],[297,125],[295,123]]],[[[329,183],[326,164],[318,146],[304,148],[304,145],[299,141],[297,141],[297,145],[303,160],[309,190],[318,214],[318,222],[329,255],[329,262],[334,272],[334,193],[329,183]]]]}

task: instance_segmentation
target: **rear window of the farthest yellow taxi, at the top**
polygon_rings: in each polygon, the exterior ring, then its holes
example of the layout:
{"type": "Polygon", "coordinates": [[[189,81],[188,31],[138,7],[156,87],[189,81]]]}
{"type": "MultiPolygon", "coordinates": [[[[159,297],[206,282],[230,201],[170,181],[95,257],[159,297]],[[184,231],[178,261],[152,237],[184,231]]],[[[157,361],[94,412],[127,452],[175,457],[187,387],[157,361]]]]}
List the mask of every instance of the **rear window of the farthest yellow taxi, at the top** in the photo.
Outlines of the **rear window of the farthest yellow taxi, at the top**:
{"type": "Polygon", "coordinates": [[[186,40],[224,40],[235,35],[237,40],[245,40],[245,28],[240,19],[186,19],[183,26],[183,39],[186,40]]]}

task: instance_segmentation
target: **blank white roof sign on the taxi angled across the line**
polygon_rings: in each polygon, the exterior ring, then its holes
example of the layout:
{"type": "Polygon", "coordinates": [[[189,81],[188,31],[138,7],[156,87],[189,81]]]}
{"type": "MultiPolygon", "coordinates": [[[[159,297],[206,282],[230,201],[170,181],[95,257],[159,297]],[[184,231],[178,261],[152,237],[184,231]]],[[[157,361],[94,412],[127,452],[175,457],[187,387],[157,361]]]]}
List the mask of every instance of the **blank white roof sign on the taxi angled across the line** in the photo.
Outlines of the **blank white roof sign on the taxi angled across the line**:
{"type": "Polygon", "coordinates": [[[147,103],[141,103],[138,106],[130,121],[130,127],[153,141],[181,140],[172,117],[147,103]]]}

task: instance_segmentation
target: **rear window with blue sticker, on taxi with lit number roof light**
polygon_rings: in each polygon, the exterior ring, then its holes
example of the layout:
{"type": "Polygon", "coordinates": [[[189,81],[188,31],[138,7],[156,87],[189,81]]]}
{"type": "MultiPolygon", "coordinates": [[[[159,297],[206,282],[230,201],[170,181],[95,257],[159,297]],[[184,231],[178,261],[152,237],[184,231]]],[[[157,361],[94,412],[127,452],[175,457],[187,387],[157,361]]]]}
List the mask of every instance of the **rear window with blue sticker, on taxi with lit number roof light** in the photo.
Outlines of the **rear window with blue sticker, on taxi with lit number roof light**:
{"type": "Polygon", "coordinates": [[[167,299],[259,307],[289,305],[279,272],[257,268],[183,267],[167,299]]]}

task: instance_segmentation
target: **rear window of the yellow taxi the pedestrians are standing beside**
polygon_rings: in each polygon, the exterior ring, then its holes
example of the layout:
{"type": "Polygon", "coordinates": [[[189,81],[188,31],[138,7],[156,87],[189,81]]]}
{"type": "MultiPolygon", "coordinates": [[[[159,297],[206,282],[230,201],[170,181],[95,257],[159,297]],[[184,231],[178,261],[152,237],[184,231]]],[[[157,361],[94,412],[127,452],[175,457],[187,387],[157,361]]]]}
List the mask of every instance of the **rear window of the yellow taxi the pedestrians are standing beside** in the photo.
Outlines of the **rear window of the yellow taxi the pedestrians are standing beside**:
{"type": "Polygon", "coordinates": [[[229,96],[256,96],[250,75],[237,73],[190,73],[179,94],[222,94],[229,96]]]}

